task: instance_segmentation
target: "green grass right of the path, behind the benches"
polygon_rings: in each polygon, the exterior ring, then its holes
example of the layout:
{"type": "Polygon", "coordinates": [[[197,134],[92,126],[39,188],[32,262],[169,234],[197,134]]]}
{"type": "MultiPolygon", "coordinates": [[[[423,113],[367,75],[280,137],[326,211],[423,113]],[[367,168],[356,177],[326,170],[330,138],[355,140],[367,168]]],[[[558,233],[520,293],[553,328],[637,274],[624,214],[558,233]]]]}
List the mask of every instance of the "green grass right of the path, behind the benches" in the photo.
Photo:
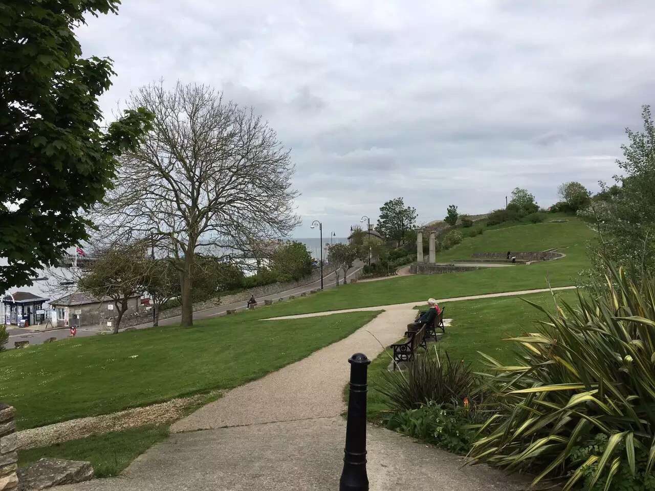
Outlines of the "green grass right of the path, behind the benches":
{"type": "MultiPolygon", "coordinates": [[[[432,351],[434,346],[437,346],[441,354],[447,352],[453,360],[471,363],[475,371],[485,369],[478,352],[511,365],[510,362],[515,359],[515,343],[505,339],[525,332],[534,332],[536,321],[546,320],[546,316],[521,298],[529,299],[554,311],[555,304],[550,293],[444,302],[441,306],[446,308],[445,318],[453,319],[453,325],[446,327],[443,340],[436,345],[428,345],[428,350],[432,351]]],[[[574,304],[576,292],[572,290],[555,292],[555,298],[574,304]]],[[[369,420],[379,420],[388,409],[386,397],[375,390],[375,387],[384,382],[383,373],[391,361],[391,355],[392,352],[386,350],[369,365],[367,407],[369,420]]]]}

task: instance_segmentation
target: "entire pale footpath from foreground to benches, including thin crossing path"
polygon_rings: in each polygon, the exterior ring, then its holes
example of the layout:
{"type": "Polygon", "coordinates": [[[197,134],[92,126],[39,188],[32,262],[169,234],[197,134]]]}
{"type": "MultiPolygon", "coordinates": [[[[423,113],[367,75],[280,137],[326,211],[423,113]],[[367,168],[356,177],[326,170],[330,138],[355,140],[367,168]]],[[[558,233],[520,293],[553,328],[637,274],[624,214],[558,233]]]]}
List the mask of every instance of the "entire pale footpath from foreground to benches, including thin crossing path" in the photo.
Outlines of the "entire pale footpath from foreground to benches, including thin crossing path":
{"type": "MultiPolygon", "coordinates": [[[[470,300],[538,293],[548,289],[443,299],[470,300]]],[[[238,387],[172,426],[172,435],[136,459],[121,477],[62,491],[316,490],[338,489],[343,465],[348,357],[373,359],[402,337],[413,307],[424,302],[348,309],[384,310],[347,338],[259,380],[238,387]]],[[[462,467],[462,458],[369,426],[371,490],[518,491],[523,477],[485,465],[462,467]]]]}

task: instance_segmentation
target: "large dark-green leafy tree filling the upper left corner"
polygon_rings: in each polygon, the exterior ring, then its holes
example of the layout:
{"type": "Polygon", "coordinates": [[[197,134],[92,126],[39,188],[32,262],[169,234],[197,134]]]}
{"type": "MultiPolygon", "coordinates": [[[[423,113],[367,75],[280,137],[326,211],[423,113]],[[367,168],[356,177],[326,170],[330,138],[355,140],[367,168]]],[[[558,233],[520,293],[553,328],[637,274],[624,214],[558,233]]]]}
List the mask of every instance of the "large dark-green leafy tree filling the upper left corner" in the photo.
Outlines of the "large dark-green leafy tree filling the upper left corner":
{"type": "Polygon", "coordinates": [[[111,186],[116,156],[149,123],[141,108],[106,131],[98,97],[113,75],[109,58],[81,58],[73,29],[84,16],[117,12],[119,0],[0,3],[0,291],[29,284],[87,239],[84,213],[111,186]]]}

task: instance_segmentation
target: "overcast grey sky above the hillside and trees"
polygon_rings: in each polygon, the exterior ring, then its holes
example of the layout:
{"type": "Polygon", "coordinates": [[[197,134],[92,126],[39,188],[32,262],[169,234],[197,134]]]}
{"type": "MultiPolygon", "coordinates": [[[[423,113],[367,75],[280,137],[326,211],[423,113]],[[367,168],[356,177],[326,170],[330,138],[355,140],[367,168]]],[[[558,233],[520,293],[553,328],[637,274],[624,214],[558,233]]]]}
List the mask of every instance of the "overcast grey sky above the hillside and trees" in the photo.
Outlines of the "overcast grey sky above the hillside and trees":
{"type": "Polygon", "coordinates": [[[535,4],[124,0],[79,38],[115,61],[105,113],[160,78],[252,105],[292,149],[294,235],[344,236],[397,196],[426,223],[617,172],[655,99],[655,2],[535,4]]]}

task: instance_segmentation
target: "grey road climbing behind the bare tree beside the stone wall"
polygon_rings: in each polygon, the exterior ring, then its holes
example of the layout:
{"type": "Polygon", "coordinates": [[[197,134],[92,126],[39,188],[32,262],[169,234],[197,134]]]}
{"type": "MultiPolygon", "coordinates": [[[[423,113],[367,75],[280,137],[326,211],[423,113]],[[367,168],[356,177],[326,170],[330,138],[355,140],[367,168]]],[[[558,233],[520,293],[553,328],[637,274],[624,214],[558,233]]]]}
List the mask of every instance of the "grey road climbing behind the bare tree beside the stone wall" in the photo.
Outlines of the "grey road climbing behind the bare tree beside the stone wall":
{"type": "MultiPolygon", "coordinates": [[[[358,261],[348,270],[348,279],[360,273],[364,263],[358,261]]],[[[343,282],[343,275],[339,276],[340,282],[343,282]]],[[[301,287],[292,288],[286,291],[281,291],[280,293],[274,293],[272,295],[266,295],[265,297],[257,297],[257,302],[263,304],[264,300],[278,300],[278,299],[288,299],[291,295],[299,296],[303,292],[309,292],[310,290],[319,289],[321,286],[320,278],[316,282],[308,283],[301,287]]],[[[335,274],[330,273],[326,274],[323,277],[323,287],[324,288],[333,288],[335,286],[335,274]]],[[[204,310],[196,310],[193,312],[193,319],[207,319],[216,316],[225,315],[227,310],[242,310],[246,308],[246,302],[235,302],[233,304],[225,304],[217,307],[206,308],[204,310]]],[[[159,325],[175,325],[180,321],[180,316],[171,317],[168,319],[160,319],[159,325]]],[[[126,329],[146,329],[147,327],[152,327],[152,323],[140,324],[126,329]]],[[[24,329],[21,327],[9,327],[9,341],[5,345],[5,348],[14,348],[14,342],[17,341],[29,341],[29,344],[41,344],[48,338],[57,338],[57,340],[68,338],[69,330],[68,328],[63,329],[50,329],[48,331],[39,331],[35,329],[24,329]]],[[[124,329],[121,329],[124,331],[124,329]]],[[[77,337],[88,337],[88,336],[97,336],[102,333],[109,334],[109,331],[106,329],[99,329],[94,327],[81,327],[77,329],[77,337]]]]}

